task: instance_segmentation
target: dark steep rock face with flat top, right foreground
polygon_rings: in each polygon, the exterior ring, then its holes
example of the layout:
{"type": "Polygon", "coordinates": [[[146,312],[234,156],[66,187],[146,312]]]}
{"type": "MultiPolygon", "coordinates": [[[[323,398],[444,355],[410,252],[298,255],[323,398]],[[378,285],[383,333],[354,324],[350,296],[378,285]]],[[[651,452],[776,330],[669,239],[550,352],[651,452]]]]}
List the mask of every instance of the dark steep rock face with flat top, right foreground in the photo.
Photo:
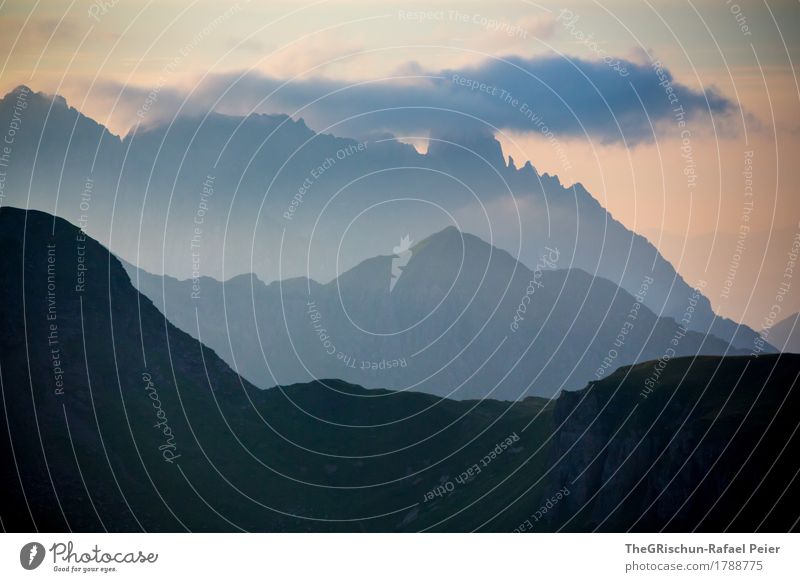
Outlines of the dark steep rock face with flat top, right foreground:
{"type": "Polygon", "coordinates": [[[653,362],[565,394],[545,490],[571,495],[541,527],[566,531],[797,528],[800,358],[653,362]]]}

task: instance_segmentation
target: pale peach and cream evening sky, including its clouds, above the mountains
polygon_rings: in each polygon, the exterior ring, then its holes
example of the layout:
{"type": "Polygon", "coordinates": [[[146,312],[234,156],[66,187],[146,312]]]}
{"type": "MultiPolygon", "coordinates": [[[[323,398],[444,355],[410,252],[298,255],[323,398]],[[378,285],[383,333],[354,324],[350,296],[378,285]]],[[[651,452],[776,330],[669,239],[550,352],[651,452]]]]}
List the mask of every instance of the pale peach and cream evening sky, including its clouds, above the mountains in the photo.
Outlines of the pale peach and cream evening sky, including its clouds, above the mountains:
{"type": "MultiPolygon", "coordinates": [[[[746,187],[751,259],[779,263],[771,233],[799,228],[797,0],[5,0],[0,27],[2,93],[61,94],[120,135],[153,92],[152,123],[214,107],[319,130],[401,98],[465,111],[518,166],[583,183],[690,282],[728,260],[746,187]]],[[[424,150],[455,129],[440,117],[380,129],[424,150]]],[[[746,293],[710,299],[735,317],[746,293]]]]}

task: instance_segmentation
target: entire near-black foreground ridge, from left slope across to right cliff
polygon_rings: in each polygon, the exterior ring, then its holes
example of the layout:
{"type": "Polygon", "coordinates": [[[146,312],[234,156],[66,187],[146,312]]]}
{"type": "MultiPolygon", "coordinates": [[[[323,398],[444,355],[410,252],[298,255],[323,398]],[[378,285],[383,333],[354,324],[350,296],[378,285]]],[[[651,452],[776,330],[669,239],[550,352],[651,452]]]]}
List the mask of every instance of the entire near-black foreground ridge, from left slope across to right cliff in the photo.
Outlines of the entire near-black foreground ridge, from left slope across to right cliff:
{"type": "Polygon", "coordinates": [[[797,529],[800,356],[515,403],[260,390],[62,219],[2,207],[0,244],[6,531],[797,529]]]}

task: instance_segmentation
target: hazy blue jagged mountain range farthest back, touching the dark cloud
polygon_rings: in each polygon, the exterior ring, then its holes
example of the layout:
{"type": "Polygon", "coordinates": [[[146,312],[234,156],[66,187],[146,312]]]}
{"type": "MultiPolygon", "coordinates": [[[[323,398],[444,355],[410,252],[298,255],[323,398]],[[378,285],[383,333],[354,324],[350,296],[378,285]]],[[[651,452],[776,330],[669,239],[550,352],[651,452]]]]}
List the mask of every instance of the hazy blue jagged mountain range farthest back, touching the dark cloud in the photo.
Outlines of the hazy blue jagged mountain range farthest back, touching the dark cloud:
{"type": "MultiPolygon", "coordinates": [[[[22,94],[5,204],[81,224],[152,273],[327,282],[406,235],[458,225],[530,269],[549,247],[559,268],[631,294],[652,277],[645,303],[658,315],[680,319],[695,302],[693,286],[582,185],[565,187],[530,163],[517,168],[492,136],[434,138],[420,154],[392,139],[316,133],[286,115],[210,112],[143,123],[120,139],[62,98],[24,87],[5,96],[0,123],[22,94]]],[[[693,309],[695,331],[747,351],[761,341],[717,317],[705,295],[693,309]]]]}

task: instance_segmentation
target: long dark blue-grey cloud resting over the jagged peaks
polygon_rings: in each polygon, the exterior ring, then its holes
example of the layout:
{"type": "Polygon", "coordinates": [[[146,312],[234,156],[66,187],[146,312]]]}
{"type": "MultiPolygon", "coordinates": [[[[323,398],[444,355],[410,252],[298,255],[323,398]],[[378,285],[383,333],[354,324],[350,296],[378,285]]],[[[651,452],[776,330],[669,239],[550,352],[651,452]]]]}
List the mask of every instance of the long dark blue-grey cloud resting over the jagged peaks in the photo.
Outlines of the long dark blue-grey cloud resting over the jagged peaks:
{"type": "MultiPolygon", "coordinates": [[[[340,135],[452,135],[499,128],[635,145],[653,139],[653,126],[674,130],[683,121],[695,131],[710,114],[727,118],[736,111],[714,89],[691,89],[666,68],[627,59],[512,56],[458,70],[426,72],[417,66],[406,72],[405,78],[352,83],[215,75],[191,92],[161,88],[148,121],[169,119],[184,103],[184,114],[287,113],[317,130],[335,126],[329,131],[340,135]]],[[[135,111],[150,92],[127,87],[122,102],[135,111]]]]}

